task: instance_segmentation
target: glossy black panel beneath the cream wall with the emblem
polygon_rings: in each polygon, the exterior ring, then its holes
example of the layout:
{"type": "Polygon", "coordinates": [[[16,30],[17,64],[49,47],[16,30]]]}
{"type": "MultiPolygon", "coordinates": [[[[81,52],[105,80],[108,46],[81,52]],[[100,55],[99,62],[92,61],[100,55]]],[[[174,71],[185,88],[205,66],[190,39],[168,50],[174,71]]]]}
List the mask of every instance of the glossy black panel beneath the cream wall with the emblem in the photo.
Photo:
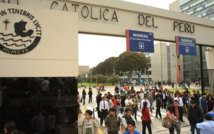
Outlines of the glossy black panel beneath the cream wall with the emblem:
{"type": "Polygon", "coordinates": [[[25,134],[77,132],[68,127],[78,114],[75,78],[0,78],[0,91],[1,130],[14,121],[25,134]]]}

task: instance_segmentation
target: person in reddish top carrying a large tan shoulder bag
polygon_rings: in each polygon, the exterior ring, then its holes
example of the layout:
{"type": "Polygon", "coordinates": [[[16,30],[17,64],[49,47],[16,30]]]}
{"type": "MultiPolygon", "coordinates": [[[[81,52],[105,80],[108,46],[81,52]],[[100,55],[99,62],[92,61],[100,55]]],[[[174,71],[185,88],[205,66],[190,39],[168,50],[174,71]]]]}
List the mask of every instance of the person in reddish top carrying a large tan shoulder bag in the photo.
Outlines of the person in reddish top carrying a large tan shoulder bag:
{"type": "Polygon", "coordinates": [[[177,117],[173,113],[173,106],[168,106],[166,117],[163,119],[162,125],[169,129],[169,134],[174,134],[175,129],[177,133],[179,131],[178,122],[177,117]]]}

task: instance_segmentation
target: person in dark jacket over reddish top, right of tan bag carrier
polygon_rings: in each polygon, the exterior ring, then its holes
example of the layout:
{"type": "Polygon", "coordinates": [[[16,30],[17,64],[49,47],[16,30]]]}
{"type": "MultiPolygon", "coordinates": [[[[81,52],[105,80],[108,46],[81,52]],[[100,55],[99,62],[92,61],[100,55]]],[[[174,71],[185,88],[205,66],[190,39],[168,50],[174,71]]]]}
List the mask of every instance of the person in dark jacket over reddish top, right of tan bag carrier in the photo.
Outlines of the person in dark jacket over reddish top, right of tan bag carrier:
{"type": "Polygon", "coordinates": [[[178,123],[178,133],[177,134],[180,134],[181,132],[181,120],[182,120],[182,117],[183,117],[183,109],[182,107],[179,107],[179,102],[178,100],[175,100],[174,101],[174,106],[173,106],[173,113],[174,115],[177,117],[179,123],[178,123]]]}

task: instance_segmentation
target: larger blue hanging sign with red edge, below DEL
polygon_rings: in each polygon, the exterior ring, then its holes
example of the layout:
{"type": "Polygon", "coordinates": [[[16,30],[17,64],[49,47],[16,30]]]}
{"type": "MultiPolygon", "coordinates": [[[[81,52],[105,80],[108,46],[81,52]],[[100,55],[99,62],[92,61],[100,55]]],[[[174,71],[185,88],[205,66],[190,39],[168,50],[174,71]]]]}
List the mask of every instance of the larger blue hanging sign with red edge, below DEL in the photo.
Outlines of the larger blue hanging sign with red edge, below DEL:
{"type": "Polygon", "coordinates": [[[153,33],[126,30],[127,51],[154,52],[153,33]]]}

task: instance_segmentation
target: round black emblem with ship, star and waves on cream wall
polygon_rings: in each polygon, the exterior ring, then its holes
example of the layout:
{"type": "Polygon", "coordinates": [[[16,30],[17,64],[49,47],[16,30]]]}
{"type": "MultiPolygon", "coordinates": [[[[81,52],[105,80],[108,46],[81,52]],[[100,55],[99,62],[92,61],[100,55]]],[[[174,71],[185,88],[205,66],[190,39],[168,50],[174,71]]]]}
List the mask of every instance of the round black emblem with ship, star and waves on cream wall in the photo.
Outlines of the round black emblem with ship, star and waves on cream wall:
{"type": "Polygon", "coordinates": [[[0,50],[21,55],[33,50],[40,42],[42,30],[39,21],[23,9],[0,10],[0,50]]]}

